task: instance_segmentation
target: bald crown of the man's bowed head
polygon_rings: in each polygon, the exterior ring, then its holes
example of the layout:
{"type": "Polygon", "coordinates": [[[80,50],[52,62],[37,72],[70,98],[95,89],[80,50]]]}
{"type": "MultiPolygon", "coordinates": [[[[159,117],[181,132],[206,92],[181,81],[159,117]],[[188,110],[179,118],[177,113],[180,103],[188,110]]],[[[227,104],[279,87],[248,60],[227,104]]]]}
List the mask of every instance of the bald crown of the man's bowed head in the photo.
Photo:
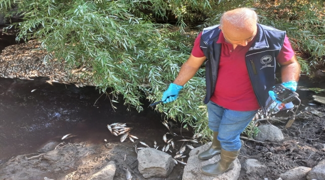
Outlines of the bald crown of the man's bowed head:
{"type": "Polygon", "coordinates": [[[220,18],[220,28],[226,24],[236,30],[251,28],[256,25],[258,20],[257,14],[250,8],[236,8],[226,11],[220,18]]]}

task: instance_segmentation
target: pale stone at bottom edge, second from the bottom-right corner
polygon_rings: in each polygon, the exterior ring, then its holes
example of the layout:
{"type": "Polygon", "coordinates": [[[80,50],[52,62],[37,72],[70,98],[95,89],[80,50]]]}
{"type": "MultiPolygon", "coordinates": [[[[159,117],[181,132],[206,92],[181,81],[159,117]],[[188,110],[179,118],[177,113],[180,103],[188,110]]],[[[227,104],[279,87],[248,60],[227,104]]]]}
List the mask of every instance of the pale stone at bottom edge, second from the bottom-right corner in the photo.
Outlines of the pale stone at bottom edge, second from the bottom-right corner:
{"type": "Polygon", "coordinates": [[[283,180],[305,180],[310,167],[299,166],[280,174],[283,180]]]}

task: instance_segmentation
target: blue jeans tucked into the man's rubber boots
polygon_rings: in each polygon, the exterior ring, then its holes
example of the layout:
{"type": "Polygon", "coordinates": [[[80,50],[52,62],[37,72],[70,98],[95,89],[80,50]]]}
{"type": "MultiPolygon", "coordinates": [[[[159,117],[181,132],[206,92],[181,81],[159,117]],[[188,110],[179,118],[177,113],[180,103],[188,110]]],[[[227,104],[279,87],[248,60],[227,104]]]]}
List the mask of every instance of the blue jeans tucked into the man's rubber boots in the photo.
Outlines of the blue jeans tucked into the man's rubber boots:
{"type": "Polygon", "coordinates": [[[211,130],[219,132],[217,139],[220,141],[221,147],[227,151],[235,151],[241,147],[240,133],[248,125],[257,110],[230,110],[209,101],[207,112],[208,126],[211,130]]]}

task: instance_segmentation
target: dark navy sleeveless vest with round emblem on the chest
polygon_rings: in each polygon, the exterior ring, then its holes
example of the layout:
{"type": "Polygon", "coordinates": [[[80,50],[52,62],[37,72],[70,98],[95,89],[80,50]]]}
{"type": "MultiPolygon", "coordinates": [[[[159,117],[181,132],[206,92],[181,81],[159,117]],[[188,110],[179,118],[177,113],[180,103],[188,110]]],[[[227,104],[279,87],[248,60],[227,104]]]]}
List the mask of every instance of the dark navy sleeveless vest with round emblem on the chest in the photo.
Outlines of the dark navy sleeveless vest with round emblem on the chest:
{"type": "MultiPolygon", "coordinates": [[[[221,31],[218,26],[204,28],[200,40],[200,47],[207,59],[205,61],[206,95],[204,103],[210,100],[214,92],[218,74],[221,51],[221,44],[216,43],[221,31]]],[[[283,45],[285,31],[258,23],[257,29],[255,41],[246,52],[245,60],[259,106],[265,107],[268,90],[275,83],[275,57],[283,45]]]]}

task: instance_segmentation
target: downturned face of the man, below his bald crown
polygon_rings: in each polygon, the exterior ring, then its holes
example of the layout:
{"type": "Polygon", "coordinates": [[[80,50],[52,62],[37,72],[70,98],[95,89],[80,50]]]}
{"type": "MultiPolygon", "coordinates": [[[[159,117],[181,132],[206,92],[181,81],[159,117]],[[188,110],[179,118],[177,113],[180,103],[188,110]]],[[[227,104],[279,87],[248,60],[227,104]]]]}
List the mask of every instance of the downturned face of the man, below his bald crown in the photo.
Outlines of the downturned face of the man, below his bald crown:
{"type": "Polygon", "coordinates": [[[232,45],[246,46],[256,35],[257,26],[247,25],[247,27],[237,30],[233,25],[224,22],[221,30],[226,42],[232,45]]]}

